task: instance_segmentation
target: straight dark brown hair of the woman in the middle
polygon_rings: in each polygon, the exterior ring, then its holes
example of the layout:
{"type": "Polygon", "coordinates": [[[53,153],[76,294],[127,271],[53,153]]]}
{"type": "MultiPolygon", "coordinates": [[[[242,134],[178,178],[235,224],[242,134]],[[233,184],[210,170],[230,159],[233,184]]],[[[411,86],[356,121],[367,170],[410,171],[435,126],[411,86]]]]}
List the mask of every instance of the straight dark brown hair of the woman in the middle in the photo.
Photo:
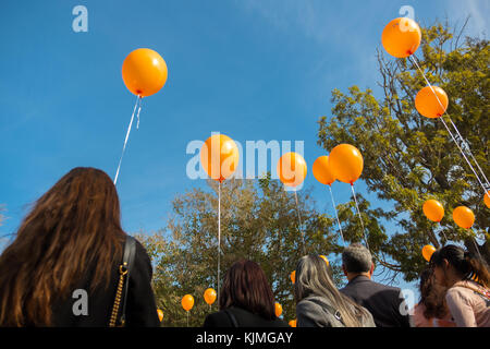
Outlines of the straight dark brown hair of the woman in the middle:
{"type": "Polygon", "coordinates": [[[272,289],[264,270],[252,261],[241,260],[230,267],[219,301],[221,310],[237,306],[266,320],[275,318],[272,289]]]}

